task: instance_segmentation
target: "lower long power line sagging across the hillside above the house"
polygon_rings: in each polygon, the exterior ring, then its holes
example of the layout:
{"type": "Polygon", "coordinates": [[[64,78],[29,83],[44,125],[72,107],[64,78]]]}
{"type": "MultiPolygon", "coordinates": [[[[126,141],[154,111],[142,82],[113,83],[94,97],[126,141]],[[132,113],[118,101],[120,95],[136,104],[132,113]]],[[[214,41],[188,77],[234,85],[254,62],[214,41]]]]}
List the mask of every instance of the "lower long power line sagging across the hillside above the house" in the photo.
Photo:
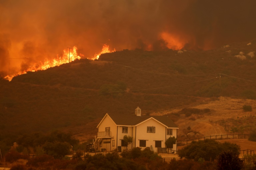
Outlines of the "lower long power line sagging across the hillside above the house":
{"type": "MultiPolygon", "coordinates": [[[[130,90],[130,91],[133,92],[133,91],[142,91],[142,90],[154,90],[154,89],[162,89],[162,88],[168,88],[168,87],[182,86],[182,85],[187,85],[187,84],[193,84],[193,83],[203,82],[203,81],[207,81],[207,80],[212,80],[212,79],[215,79],[215,78],[218,78],[218,77],[205,79],[205,80],[201,80],[201,81],[195,81],[195,82],[191,82],[191,83],[184,83],[184,84],[165,86],[165,87],[156,87],[156,88],[149,88],[149,89],[130,90]]],[[[44,102],[44,101],[57,101],[57,100],[65,100],[65,99],[83,98],[83,97],[88,97],[88,96],[96,96],[96,95],[102,95],[102,94],[108,94],[108,93],[122,93],[122,92],[127,92],[127,91],[105,92],[105,93],[97,93],[97,94],[83,95],[83,96],[76,96],[76,97],[66,97],[66,98],[60,98],[60,99],[34,100],[34,101],[22,101],[22,102],[0,102],[0,103],[32,103],[32,102],[44,102]]]]}

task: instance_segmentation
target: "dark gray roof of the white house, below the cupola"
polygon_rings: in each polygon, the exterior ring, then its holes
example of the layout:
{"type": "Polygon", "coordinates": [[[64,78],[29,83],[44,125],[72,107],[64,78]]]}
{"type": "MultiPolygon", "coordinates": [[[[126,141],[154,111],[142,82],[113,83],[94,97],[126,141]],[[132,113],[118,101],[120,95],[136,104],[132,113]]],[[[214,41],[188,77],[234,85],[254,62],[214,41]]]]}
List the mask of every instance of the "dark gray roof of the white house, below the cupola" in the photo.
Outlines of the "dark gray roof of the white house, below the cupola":
{"type": "Polygon", "coordinates": [[[108,115],[116,125],[134,126],[152,117],[169,128],[178,128],[178,126],[168,116],[136,116],[135,114],[128,115],[113,113],[108,113],[108,115]]]}

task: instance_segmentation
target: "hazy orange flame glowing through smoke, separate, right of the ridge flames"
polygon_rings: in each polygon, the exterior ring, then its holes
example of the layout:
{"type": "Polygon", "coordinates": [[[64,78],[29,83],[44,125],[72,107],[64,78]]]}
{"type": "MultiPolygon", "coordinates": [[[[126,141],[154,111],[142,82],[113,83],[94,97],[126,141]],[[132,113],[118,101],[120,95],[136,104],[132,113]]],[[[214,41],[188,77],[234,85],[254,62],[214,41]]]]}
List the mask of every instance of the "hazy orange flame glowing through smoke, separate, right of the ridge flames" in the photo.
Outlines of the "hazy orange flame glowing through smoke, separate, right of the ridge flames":
{"type": "Polygon", "coordinates": [[[187,42],[182,42],[179,37],[170,33],[161,33],[161,38],[167,42],[167,47],[174,50],[179,50],[184,47],[187,42]]]}

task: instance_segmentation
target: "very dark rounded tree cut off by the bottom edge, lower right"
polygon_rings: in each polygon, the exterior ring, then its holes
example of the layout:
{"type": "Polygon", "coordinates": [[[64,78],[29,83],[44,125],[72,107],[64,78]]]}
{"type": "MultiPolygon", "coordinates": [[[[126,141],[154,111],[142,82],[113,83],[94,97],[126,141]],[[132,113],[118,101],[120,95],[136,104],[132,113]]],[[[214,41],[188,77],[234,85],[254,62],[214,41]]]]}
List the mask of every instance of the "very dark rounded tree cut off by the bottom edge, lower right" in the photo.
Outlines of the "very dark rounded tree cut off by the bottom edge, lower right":
{"type": "Polygon", "coordinates": [[[239,154],[233,151],[222,152],[217,159],[219,170],[240,170],[243,168],[243,160],[239,159],[239,154]]]}

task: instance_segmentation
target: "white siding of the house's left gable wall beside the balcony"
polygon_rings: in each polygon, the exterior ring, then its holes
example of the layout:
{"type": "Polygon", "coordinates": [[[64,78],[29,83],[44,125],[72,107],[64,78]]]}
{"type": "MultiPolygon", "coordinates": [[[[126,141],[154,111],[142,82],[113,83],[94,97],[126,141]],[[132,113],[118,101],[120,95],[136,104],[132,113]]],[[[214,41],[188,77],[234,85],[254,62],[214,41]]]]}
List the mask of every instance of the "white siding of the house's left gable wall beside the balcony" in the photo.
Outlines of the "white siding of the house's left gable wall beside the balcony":
{"type": "Polygon", "coordinates": [[[107,152],[110,152],[110,151],[113,151],[115,148],[117,148],[116,146],[116,134],[117,134],[117,131],[116,131],[116,124],[110,119],[109,116],[106,116],[105,119],[101,122],[99,128],[98,128],[98,131],[105,131],[105,128],[108,128],[110,127],[110,131],[111,131],[111,139],[103,139],[102,140],[102,147],[99,147],[100,151],[102,148],[105,148],[107,149],[107,152]],[[115,140],[115,146],[112,146],[112,140],[115,140]],[[110,141],[110,143],[105,143],[104,144],[104,141],[110,141]]]}

